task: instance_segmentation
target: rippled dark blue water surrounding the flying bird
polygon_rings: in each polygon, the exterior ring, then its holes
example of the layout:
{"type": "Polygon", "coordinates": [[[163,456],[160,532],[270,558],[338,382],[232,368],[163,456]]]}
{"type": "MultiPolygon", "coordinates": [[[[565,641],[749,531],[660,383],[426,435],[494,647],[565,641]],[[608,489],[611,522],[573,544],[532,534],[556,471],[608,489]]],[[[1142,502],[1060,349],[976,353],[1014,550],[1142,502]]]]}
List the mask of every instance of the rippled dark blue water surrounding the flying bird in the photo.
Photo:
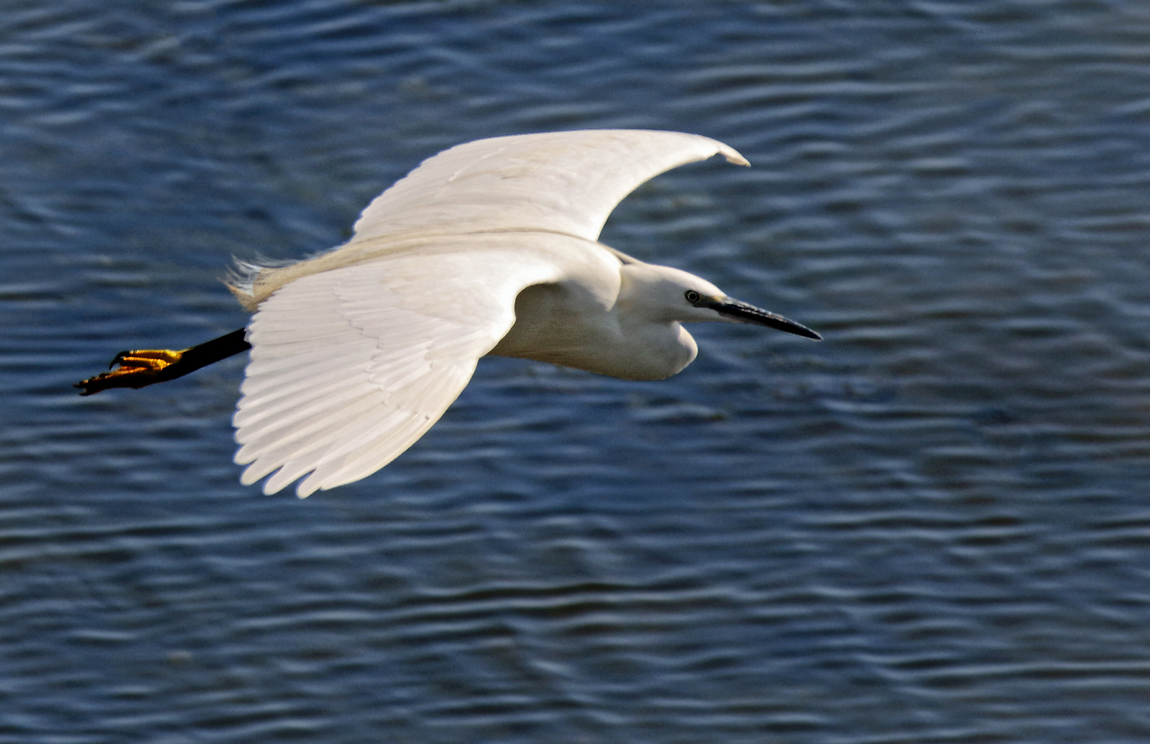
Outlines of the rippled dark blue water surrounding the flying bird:
{"type": "Polygon", "coordinates": [[[1150,739],[1138,0],[7,0],[0,742],[1150,739]],[[486,360],[377,475],[238,484],[239,328],[435,152],[636,126],[606,243],[827,340],[486,360]]]}

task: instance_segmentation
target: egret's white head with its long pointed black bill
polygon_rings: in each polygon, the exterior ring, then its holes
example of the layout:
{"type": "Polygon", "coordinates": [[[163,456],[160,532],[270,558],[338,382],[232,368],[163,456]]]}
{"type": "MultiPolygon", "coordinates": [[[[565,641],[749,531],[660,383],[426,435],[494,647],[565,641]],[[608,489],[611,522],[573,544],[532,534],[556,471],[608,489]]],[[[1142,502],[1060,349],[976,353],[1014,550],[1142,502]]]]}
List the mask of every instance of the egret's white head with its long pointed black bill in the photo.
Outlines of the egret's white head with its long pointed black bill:
{"type": "Polygon", "coordinates": [[[627,314],[659,322],[723,321],[750,323],[822,340],[802,323],[727,297],[718,286],[693,274],[651,263],[627,263],[619,296],[627,314]]]}

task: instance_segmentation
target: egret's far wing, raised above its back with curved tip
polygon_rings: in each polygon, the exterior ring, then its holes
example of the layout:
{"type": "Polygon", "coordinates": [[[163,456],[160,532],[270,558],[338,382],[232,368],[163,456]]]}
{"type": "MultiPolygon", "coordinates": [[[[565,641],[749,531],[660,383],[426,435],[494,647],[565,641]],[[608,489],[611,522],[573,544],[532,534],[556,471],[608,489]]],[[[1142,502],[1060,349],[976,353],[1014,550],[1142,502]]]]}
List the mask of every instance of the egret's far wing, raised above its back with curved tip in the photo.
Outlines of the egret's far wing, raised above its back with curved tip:
{"type": "Polygon", "coordinates": [[[747,164],[727,145],[683,132],[599,129],[480,139],[423,161],[376,197],[355,222],[352,244],[490,230],[595,240],[615,205],[641,184],[718,154],[747,164]]]}

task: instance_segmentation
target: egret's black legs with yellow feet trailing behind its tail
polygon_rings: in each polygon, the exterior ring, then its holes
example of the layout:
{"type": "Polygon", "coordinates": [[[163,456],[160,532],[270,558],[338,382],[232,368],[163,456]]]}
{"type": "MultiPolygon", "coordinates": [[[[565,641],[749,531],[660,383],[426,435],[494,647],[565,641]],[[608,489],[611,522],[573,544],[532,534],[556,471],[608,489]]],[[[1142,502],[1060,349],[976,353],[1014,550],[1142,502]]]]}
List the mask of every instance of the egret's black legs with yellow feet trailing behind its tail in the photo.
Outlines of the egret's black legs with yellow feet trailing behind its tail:
{"type": "Polygon", "coordinates": [[[167,382],[183,377],[200,367],[214,365],[251,348],[244,339],[244,329],[232,331],[227,336],[213,338],[199,346],[183,351],[170,348],[143,348],[116,354],[108,365],[109,368],[120,365],[112,371],[106,371],[76,383],[82,396],[91,396],[109,388],[145,388],[158,382],[167,382]]]}

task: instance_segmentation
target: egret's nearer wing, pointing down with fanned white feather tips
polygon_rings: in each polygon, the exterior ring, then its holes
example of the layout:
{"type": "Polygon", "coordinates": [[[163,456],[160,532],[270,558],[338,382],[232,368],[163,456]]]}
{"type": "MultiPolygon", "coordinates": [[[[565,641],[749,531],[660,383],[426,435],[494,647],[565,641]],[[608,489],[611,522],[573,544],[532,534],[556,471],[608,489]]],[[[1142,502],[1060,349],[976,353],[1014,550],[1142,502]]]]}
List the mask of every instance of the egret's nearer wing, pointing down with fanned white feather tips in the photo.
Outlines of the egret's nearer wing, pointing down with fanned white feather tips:
{"type": "Polygon", "coordinates": [[[527,241],[461,236],[277,290],[247,332],[252,361],[233,419],[236,462],[251,463],[240,480],[276,471],[263,485],[274,493],[310,474],[297,486],[302,498],[409,447],[511,329],[516,294],[561,278],[545,252],[516,243],[527,241]]]}

